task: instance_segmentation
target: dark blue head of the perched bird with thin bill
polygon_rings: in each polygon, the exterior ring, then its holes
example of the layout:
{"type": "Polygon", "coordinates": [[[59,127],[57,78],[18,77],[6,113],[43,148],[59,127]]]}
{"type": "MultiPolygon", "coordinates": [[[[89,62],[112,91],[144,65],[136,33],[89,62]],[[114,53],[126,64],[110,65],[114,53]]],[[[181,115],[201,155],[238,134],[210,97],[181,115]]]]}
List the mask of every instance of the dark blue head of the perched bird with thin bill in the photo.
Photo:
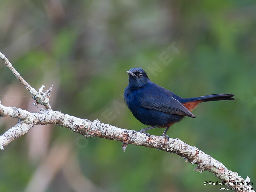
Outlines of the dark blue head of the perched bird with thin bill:
{"type": "Polygon", "coordinates": [[[143,87],[150,81],[147,73],[142,68],[132,68],[126,71],[126,73],[129,75],[130,86],[143,87]]]}

